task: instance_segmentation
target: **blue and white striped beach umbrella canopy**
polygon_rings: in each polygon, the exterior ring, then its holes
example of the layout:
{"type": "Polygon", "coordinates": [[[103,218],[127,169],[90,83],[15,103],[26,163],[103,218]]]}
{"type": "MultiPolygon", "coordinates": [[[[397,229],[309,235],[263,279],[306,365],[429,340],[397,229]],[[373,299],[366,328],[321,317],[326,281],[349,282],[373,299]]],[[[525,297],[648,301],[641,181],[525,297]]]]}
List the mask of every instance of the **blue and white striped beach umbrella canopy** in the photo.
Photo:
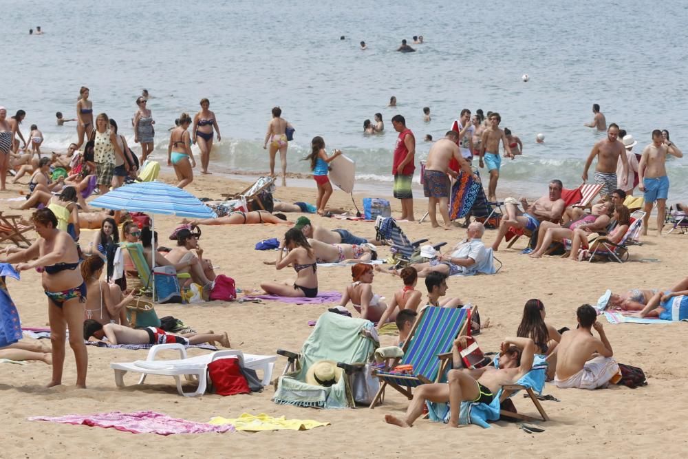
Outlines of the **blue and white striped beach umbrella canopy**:
{"type": "Polygon", "coordinates": [[[148,212],[189,218],[217,217],[191,193],[163,182],[139,182],[109,191],[88,203],[113,211],[148,212]]]}

